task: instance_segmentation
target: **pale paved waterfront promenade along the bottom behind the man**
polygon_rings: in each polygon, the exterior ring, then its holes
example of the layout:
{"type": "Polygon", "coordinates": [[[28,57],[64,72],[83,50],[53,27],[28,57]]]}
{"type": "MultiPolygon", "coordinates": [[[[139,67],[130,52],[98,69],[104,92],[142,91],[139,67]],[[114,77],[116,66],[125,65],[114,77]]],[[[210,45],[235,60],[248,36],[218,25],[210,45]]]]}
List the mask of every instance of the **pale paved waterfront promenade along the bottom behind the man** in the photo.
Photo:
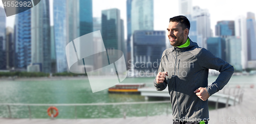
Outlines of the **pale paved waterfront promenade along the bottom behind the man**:
{"type": "MultiPolygon", "coordinates": [[[[244,88],[243,100],[240,104],[218,110],[211,110],[209,123],[256,123],[256,89],[244,88]]],[[[172,123],[172,115],[126,117],[124,118],[100,118],[100,119],[5,119],[0,118],[0,123],[172,123]]]]}

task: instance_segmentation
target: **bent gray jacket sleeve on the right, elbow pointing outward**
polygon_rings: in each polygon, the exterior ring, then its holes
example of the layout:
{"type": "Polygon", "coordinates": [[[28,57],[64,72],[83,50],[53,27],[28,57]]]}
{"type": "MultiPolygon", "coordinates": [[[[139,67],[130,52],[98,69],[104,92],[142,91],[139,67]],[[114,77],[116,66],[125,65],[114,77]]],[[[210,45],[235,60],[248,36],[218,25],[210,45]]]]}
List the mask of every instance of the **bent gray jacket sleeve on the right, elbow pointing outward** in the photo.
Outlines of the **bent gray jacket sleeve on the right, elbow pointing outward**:
{"type": "Polygon", "coordinates": [[[204,69],[215,69],[220,72],[220,75],[214,83],[205,87],[209,95],[218,92],[221,90],[230,80],[233,75],[234,68],[229,63],[224,60],[214,56],[212,53],[207,51],[205,48],[202,48],[198,54],[199,64],[204,69]]]}

